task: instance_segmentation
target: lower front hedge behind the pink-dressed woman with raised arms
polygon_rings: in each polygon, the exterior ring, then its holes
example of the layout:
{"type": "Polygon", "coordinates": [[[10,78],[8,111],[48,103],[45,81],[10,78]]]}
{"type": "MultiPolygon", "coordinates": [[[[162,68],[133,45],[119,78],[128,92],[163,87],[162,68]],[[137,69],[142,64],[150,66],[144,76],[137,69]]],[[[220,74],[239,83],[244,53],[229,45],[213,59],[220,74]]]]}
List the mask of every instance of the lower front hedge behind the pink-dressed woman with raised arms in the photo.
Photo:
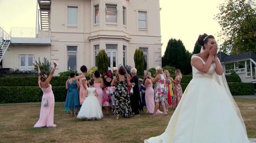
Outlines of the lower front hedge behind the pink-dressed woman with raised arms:
{"type": "MultiPolygon", "coordinates": [[[[65,101],[67,90],[65,86],[53,86],[56,102],[65,101]]],[[[28,103],[39,102],[42,99],[42,90],[38,86],[1,86],[0,103],[28,103]]]]}

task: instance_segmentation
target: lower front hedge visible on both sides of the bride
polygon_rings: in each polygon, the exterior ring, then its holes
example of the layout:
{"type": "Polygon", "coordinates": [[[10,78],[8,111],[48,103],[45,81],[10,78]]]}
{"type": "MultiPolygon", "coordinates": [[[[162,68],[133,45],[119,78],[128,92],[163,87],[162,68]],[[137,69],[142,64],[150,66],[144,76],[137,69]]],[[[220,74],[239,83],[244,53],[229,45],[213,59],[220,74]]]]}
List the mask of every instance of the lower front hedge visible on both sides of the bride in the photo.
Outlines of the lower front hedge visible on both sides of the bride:
{"type": "MultiPolygon", "coordinates": [[[[181,88],[183,92],[188,86],[188,83],[181,83],[181,88]]],[[[254,95],[254,85],[253,83],[228,83],[230,92],[233,96],[235,95],[254,95]]]]}

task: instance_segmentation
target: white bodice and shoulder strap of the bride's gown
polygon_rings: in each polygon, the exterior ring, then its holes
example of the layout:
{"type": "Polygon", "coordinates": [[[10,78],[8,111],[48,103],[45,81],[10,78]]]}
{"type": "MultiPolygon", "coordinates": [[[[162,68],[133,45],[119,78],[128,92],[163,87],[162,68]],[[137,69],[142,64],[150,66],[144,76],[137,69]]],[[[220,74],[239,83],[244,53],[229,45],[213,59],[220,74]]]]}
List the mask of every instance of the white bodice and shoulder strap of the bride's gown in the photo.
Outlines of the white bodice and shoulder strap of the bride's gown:
{"type": "MultiPolygon", "coordinates": [[[[205,64],[204,60],[202,58],[200,58],[198,55],[192,55],[191,59],[192,58],[198,58],[201,60],[201,62],[203,64],[205,64]]],[[[205,77],[209,77],[209,78],[212,78],[214,73],[215,73],[215,63],[211,64],[210,66],[210,69],[208,70],[207,73],[203,73],[203,72],[200,72],[198,69],[196,69],[195,67],[192,66],[192,73],[193,73],[193,78],[195,77],[199,77],[199,76],[205,76],[205,77]]]]}

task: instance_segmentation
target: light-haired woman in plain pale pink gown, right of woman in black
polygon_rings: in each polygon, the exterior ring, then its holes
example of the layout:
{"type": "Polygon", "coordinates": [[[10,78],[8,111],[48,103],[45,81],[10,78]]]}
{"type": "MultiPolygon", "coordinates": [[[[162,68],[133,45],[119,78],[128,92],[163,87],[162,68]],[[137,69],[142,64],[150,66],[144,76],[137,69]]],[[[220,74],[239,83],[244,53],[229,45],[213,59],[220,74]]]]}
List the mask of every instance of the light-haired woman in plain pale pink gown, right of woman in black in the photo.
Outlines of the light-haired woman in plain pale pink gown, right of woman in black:
{"type": "MultiPolygon", "coordinates": [[[[154,89],[153,84],[150,79],[151,73],[146,72],[145,73],[146,80],[145,80],[145,101],[146,101],[146,107],[147,107],[147,114],[153,114],[155,110],[155,101],[154,101],[154,89]]],[[[156,114],[163,114],[160,110],[156,111],[156,114]]]]}

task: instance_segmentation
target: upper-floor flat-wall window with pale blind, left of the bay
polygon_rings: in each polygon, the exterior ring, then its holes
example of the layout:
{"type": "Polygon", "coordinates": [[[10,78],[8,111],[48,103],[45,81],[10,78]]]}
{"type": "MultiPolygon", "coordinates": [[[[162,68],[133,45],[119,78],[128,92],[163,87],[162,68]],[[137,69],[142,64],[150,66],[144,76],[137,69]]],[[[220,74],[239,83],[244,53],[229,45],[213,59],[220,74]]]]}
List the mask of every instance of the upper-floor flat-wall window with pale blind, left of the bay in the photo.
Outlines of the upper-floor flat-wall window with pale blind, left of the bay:
{"type": "Polygon", "coordinates": [[[67,7],[67,25],[77,26],[77,8],[67,7]]]}

